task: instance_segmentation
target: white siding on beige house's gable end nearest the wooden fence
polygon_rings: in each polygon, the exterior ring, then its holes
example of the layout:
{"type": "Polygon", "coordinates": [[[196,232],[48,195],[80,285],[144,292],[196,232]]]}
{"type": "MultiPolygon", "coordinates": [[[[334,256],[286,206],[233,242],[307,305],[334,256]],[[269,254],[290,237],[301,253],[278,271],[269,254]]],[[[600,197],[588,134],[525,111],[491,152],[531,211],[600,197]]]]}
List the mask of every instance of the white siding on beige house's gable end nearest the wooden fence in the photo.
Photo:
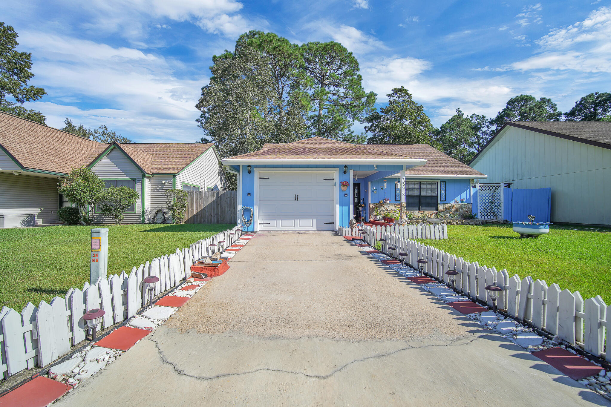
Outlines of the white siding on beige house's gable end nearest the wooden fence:
{"type": "Polygon", "coordinates": [[[214,147],[208,148],[202,156],[198,157],[185,170],[176,176],[176,187],[182,189],[183,182],[191,185],[199,185],[205,189],[222,190],[225,185],[222,182],[223,173],[219,166],[219,159],[216,156],[214,147]]]}

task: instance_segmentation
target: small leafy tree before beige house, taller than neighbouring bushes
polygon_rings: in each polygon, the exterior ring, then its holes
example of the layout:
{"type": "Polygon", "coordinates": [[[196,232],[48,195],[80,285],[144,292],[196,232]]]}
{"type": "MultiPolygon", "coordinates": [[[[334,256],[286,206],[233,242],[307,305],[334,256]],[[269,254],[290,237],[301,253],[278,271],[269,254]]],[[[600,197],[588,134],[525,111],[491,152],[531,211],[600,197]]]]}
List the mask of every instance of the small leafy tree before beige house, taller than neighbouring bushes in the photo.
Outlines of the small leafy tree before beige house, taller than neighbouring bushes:
{"type": "Polygon", "coordinates": [[[68,176],[59,182],[59,193],[70,203],[76,204],[82,214],[82,223],[89,222],[91,217],[88,206],[92,208],[98,203],[103,189],[104,181],[88,167],[73,168],[68,176]]]}

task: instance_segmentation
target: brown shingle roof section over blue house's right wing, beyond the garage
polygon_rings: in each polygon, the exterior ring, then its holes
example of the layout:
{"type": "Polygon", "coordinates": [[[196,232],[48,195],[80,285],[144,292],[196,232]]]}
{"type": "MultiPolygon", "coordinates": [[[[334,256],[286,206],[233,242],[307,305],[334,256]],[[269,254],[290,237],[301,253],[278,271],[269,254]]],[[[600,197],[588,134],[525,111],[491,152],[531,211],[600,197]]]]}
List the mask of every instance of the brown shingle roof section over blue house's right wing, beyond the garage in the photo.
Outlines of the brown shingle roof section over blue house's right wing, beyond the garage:
{"type": "Polygon", "coordinates": [[[392,151],[411,155],[426,160],[425,165],[410,168],[405,171],[406,175],[447,175],[447,176],[470,176],[473,178],[484,177],[480,171],[476,171],[462,162],[453,159],[447,154],[428,144],[371,144],[372,148],[383,151],[392,151]]]}

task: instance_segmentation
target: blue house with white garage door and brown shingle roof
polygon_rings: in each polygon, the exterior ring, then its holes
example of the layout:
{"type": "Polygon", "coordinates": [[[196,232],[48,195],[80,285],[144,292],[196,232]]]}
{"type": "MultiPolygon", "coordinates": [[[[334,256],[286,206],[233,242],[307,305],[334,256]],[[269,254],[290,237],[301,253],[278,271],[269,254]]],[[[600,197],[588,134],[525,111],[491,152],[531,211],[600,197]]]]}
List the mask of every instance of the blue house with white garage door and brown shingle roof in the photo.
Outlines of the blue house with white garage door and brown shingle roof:
{"type": "Polygon", "coordinates": [[[377,206],[436,212],[471,203],[486,175],[429,145],[357,145],[312,137],[222,160],[238,176],[247,231],[324,231],[377,206]],[[401,193],[401,190],[404,193],[401,193]],[[379,203],[389,198],[388,203],[379,203]]]}

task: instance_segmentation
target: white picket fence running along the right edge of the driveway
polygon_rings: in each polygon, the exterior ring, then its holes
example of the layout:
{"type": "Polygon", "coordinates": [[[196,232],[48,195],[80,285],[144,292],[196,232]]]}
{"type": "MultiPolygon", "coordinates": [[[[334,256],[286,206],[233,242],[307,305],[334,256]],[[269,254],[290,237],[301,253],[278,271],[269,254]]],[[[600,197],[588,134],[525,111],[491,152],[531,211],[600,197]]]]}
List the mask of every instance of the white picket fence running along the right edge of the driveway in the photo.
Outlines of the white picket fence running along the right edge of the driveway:
{"type": "MultiPolygon", "coordinates": [[[[611,362],[611,352],[606,352],[611,346],[611,335],[606,335],[611,328],[611,318],[607,320],[607,315],[611,317],[611,309],[599,295],[584,301],[579,291],[561,290],[555,283],[547,286],[545,281],[534,280],[531,276],[520,279],[516,274],[510,277],[504,268],[497,271],[478,262],[468,262],[399,234],[380,235],[378,229],[369,226],[365,226],[364,231],[366,243],[375,247],[379,238],[384,237],[386,242],[383,242],[382,251],[404,259],[413,268],[419,268],[418,259],[427,260],[425,273],[445,283],[449,281],[445,272],[456,269],[459,272],[455,279],[456,291],[485,301],[490,306],[492,300],[485,287],[491,284],[501,287],[503,292],[497,305],[507,310],[511,317],[558,335],[568,344],[611,362]],[[389,253],[389,247],[395,247],[395,250],[389,253]],[[408,255],[398,256],[401,252],[408,255]]],[[[340,236],[350,236],[346,232],[345,228],[337,229],[340,236]]]]}

